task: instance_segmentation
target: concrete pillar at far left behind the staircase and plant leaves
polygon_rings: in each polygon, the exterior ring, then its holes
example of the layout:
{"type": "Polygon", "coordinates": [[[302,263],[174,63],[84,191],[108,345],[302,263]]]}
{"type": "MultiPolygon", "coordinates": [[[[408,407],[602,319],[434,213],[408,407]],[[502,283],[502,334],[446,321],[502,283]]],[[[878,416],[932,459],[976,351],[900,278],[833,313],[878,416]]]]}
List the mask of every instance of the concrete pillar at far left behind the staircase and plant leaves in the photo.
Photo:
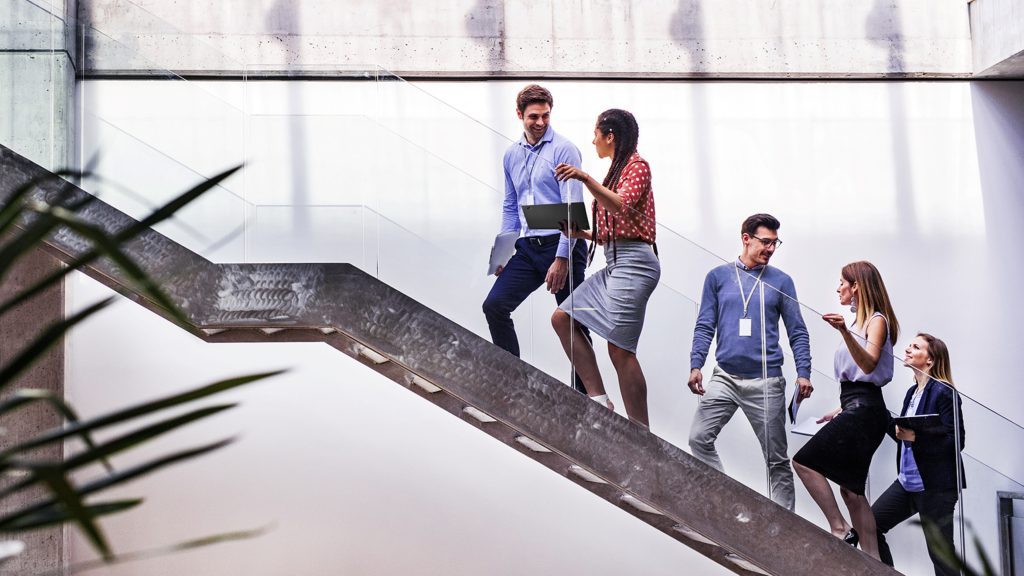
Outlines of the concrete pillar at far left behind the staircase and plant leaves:
{"type": "MultiPolygon", "coordinates": [[[[77,0],[30,3],[0,0],[0,141],[33,161],[56,170],[76,164],[72,130],[75,122],[75,17],[77,0]],[[71,14],[71,17],[69,17],[71,14]]],[[[51,274],[59,263],[36,252],[9,271],[0,286],[6,300],[51,274]]],[[[41,294],[0,320],[0,361],[6,363],[31,342],[41,327],[63,314],[63,284],[41,294]]],[[[65,354],[61,344],[41,358],[5,389],[39,388],[63,394],[65,354]]],[[[4,445],[59,426],[62,418],[49,408],[31,407],[4,418],[4,445]]],[[[34,457],[59,459],[60,445],[40,449],[34,457]]],[[[8,498],[11,507],[44,497],[32,491],[8,498]]],[[[59,570],[67,563],[60,528],[5,535],[25,541],[27,549],[5,564],[0,574],[32,574],[59,570]]]]}

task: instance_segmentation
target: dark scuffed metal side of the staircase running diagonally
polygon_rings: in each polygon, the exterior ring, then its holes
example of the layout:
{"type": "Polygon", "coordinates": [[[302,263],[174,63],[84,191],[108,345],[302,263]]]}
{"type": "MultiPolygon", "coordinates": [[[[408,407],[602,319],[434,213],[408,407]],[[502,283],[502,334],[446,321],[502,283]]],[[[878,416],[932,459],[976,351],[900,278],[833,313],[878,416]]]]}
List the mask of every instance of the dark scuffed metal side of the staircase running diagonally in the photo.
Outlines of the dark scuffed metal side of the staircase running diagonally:
{"type": "MultiPolygon", "coordinates": [[[[40,200],[67,192],[50,175],[0,146],[0,202],[34,179],[40,200]]],[[[98,200],[80,215],[109,232],[134,222],[98,200]]],[[[67,230],[47,242],[66,262],[89,248],[67,230]]],[[[350,264],[215,264],[154,231],[125,251],[198,337],[326,342],[736,574],[896,574],[350,264]]],[[[168,318],[111,262],[83,272],[168,318]]]]}

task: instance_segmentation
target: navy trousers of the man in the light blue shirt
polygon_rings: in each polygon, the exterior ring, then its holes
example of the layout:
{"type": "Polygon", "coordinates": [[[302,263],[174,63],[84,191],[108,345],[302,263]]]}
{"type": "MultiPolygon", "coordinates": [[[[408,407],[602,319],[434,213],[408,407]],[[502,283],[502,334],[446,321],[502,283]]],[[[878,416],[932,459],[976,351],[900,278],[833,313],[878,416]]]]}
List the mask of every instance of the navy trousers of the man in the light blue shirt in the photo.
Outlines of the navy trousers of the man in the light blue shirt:
{"type": "MultiPolygon", "coordinates": [[[[512,312],[544,285],[548,269],[555,261],[560,236],[553,234],[517,240],[515,254],[505,265],[505,270],[490,287],[490,293],[483,300],[483,316],[486,317],[487,328],[490,329],[490,340],[515,356],[519,356],[519,338],[515,334],[512,312]]],[[[571,279],[566,279],[565,286],[555,294],[555,302],[560,304],[568,297],[570,286],[574,288],[583,284],[586,269],[587,242],[577,240],[572,248],[571,279]]],[[[583,331],[590,338],[590,332],[586,327],[583,331]]],[[[572,387],[586,394],[580,376],[575,373],[573,376],[572,387]]]]}

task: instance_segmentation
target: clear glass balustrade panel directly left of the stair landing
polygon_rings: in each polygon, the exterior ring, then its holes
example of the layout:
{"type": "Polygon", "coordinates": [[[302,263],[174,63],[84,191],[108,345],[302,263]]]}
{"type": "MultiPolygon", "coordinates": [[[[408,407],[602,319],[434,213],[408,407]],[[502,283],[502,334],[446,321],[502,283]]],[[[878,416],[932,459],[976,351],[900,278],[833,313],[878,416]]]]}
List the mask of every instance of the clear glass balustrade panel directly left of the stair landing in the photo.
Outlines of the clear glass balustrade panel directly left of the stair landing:
{"type": "MultiPolygon", "coordinates": [[[[126,6],[130,3],[126,3],[126,6]]],[[[83,31],[85,57],[147,70],[145,80],[81,83],[82,186],[141,218],[206,178],[243,163],[244,115],[239,86],[197,83],[150,61],[93,28],[83,31]]],[[[158,230],[214,260],[245,258],[252,213],[236,175],[158,230]]]]}

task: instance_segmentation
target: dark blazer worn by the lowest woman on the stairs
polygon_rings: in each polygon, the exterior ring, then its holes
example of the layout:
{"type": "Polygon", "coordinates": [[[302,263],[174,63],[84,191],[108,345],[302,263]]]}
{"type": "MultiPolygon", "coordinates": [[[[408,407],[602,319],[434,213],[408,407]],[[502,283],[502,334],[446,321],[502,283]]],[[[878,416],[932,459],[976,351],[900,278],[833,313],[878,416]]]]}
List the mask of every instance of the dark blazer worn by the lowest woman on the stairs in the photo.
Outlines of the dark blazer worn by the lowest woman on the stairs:
{"type": "MultiPolygon", "coordinates": [[[[900,416],[906,415],[906,409],[910,405],[910,398],[918,385],[914,384],[906,390],[903,398],[903,409],[900,416]]],[[[913,451],[913,459],[918,463],[921,471],[921,480],[925,484],[925,490],[949,490],[956,489],[956,464],[961,468],[961,486],[967,488],[967,477],[964,475],[964,461],[959,459],[959,454],[953,458],[956,452],[954,443],[953,426],[953,398],[956,400],[956,418],[959,421],[959,448],[964,450],[967,436],[964,431],[964,410],[963,401],[959,395],[953,389],[938,380],[931,378],[925,384],[925,390],[921,394],[921,402],[918,406],[918,414],[938,414],[942,420],[942,428],[935,430],[923,430],[915,434],[916,441],[910,443],[913,451]]],[[[893,440],[896,440],[896,421],[890,417],[889,427],[886,430],[893,440]]],[[[900,450],[903,446],[902,440],[896,440],[896,470],[900,469],[900,450]]]]}

